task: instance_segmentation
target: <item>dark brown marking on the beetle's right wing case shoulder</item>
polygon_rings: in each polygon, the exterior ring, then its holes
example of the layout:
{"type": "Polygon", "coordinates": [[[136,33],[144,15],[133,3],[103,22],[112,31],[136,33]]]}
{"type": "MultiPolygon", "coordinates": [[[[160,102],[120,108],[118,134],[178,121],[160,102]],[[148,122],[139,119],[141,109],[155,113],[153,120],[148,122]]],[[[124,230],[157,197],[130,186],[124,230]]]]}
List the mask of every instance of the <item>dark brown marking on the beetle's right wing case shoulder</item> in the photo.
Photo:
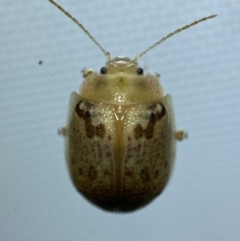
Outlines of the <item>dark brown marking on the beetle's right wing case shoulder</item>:
{"type": "Polygon", "coordinates": [[[150,105],[147,110],[151,111],[150,115],[148,116],[147,127],[143,129],[140,123],[136,124],[134,127],[134,138],[136,140],[143,136],[145,136],[146,139],[151,139],[154,134],[154,126],[156,122],[161,120],[166,114],[166,109],[161,103],[150,105]]]}

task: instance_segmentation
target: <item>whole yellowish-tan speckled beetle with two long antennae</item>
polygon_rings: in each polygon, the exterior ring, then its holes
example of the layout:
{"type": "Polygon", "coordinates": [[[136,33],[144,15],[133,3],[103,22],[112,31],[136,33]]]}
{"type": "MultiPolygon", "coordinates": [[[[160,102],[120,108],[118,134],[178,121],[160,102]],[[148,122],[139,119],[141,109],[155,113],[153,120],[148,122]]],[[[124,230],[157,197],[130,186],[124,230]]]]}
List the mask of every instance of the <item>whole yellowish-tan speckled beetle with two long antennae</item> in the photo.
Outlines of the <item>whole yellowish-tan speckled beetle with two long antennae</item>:
{"type": "Polygon", "coordinates": [[[75,188],[91,203],[113,212],[131,212],[150,203],[171,177],[176,141],[172,98],[164,94],[158,74],[144,73],[138,60],[163,41],[211,19],[211,15],[175,30],[135,59],[110,58],[84,26],[55,1],[107,58],[100,72],[85,68],[79,93],[70,97],[65,155],[75,188]]]}

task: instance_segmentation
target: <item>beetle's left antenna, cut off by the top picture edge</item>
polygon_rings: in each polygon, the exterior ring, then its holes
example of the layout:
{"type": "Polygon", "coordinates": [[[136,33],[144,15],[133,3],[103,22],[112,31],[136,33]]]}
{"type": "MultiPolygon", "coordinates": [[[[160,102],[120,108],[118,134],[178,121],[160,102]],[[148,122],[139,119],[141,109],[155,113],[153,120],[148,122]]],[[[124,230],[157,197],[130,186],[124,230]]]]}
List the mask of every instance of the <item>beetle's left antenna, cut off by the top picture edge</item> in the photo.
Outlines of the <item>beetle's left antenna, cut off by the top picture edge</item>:
{"type": "Polygon", "coordinates": [[[79,23],[77,21],[76,18],[74,18],[70,13],[68,13],[67,11],[65,11],[60,5],[58,5],[55,1],[53,0],[48,0],[50,3],[52,3],[54,6],[56,6],[61,12],[63,12],[67,17],[69,17],[74,23],[76,23],[78,25],[79,28],[81,28],[83,30],[83,32],[102,50],[102,52],[104,53],[104,55],[107,58],[107,61],[109,61],[110,58],[110,53],[107,52],[98,42],[97,40],[87,31],[86,28],[84,28],[84,26],[79,23]]]}

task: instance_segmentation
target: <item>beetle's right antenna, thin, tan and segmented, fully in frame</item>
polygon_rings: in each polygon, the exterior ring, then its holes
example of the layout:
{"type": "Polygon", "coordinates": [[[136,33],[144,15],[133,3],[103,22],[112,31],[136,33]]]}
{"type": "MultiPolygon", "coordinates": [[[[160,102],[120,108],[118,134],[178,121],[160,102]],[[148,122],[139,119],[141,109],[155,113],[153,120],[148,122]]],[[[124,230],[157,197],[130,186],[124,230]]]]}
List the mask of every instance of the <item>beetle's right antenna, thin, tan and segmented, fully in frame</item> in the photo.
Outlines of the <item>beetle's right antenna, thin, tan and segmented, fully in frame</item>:
{"type": "Polygon", "coordinates": [[[205,18],[201,18],[201,19],[199,19],[199,20],[197,20],[197,21],[195,21],[195,22],[192,22],[192,23],[190,23],[190,24],[188,24],[188,25],[186,25],[186,26],[184,26],[184,27],[182,27],[182,28],[179,28],[179,29],[175,30],[174,32],[168,34],[167,36],[165,36],[164,38],[160,39],[158,42],[156,42],[155,44],[153,44],[152,46],[150,46],[149,48],[147,48],[147,49],[146,49],[145,51],[143,51],[142,53],[138,54],[138,55],[135,57],[134,62],[138,62],[138,60],[139,60],[144,54],[146,54],[148,51],[150,51],[151,49],[155,48],[157,45],[159,45],[160,43],[164,42],[165,40],[171,38],[173,35],[175,35],[175,34],[177,34],[177,33],[180,33],[181,31],[183,31],[183,30],[185,30],[185,29],[187,29],[187,28],[190,28],[190,27],[192,27],[192,26],[194,26],[194,25],[196,25],[196,24],[198,24],[198,23],[200,23],[200,22],[206,21],[206,20],[208,20],[208,19],[210,19],[210,18],[215,18],[216,16],[217,16],[217,15],[214,14],[214,15],[211,15],[211,16],[208,16],[208,17],[205,17],[205,18]]]}

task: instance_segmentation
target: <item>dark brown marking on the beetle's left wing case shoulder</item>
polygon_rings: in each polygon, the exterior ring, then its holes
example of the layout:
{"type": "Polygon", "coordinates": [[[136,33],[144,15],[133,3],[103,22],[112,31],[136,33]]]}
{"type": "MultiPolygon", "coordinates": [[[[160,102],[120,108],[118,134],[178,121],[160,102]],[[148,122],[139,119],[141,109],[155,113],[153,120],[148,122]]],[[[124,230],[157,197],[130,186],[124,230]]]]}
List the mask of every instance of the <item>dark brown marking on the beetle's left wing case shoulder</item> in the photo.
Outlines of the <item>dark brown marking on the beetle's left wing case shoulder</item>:
{"type": "Polygon", "coordinates": [[[85,122],[85,131],[88,138],[92,138],[94,135],[104,138],[105,126],[100,123],[97,126],[92,124],[92,118],[94,115],[94,105],[87,101],[79,101],[75,107],[77,115],[85,122]]]}

